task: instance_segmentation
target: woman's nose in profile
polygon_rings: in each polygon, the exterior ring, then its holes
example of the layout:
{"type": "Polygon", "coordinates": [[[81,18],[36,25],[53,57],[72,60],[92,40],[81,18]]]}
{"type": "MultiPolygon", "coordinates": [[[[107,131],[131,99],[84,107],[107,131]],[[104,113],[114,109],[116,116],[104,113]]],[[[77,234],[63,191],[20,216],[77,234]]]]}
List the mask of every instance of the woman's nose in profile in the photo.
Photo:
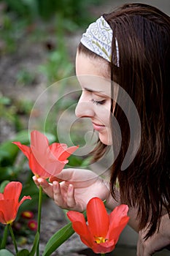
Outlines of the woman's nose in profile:
{"type": "Polygon", "coordinates": [[[94,111],[93,111],[93,103],[89,100],[86,101],[82,97],[80,97],[79,102],[77,103],[77,107],[75,109],[75,115],[77,117],[93,117],[94,111]]]}

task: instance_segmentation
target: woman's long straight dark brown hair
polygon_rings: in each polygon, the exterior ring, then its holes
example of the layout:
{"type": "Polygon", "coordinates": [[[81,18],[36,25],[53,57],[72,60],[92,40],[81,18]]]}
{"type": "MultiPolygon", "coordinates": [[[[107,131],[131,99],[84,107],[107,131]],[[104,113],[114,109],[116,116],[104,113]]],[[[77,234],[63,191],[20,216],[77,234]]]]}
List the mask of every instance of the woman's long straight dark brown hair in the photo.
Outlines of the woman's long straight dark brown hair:
{"type": "MultiPolygon", "coordinates": [[[[116,105],[122,143],[112,165],[110,189],[115,197],[118,178],[121,202],[138,209],[139,229],[148,225],[148,238],[158,229],[163,208],[170,212],[170,18],[147,4],[124,4],[103,16],[113,31],[111,79],[133,100],[142,128],[136,157],[121,170],[131,132],[125,113],[116,105]]],[[[88,54],[94,53],[88,50],[88,54]]],[[[113,137],[114,148],[115,141],[113,137]]]]}

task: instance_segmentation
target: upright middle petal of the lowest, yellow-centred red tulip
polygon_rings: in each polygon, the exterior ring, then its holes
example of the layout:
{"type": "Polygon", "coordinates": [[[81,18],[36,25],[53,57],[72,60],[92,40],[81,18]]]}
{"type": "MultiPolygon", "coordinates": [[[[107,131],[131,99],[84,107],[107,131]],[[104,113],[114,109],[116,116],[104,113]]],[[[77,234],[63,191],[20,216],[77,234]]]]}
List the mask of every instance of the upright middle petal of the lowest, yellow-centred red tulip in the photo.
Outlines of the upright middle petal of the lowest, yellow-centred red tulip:
{"type": "Polygon", "coordinates": [[[93,197],[90,199],[87,206],[87,217],[89,229],[93,236],[105,238],[109,229],[109,216],[100,198],[93,197]]]}

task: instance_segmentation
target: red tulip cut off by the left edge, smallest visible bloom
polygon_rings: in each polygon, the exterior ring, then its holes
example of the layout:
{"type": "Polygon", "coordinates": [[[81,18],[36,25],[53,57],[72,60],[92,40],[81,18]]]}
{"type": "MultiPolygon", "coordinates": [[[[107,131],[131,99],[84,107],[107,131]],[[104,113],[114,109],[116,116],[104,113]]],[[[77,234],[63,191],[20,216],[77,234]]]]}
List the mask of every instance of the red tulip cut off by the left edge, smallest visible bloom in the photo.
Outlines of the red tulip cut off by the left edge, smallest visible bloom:
{"type": "Polygon", "coordinates": [[[17,217],[18,208],[26,199],[31,197],[24,196],[20,202],[19,197],[22,190],[22,184],[18,181],[11,181],[4,188],[4,193],[0,193],[0,222],[10,224],[17,217]]]}

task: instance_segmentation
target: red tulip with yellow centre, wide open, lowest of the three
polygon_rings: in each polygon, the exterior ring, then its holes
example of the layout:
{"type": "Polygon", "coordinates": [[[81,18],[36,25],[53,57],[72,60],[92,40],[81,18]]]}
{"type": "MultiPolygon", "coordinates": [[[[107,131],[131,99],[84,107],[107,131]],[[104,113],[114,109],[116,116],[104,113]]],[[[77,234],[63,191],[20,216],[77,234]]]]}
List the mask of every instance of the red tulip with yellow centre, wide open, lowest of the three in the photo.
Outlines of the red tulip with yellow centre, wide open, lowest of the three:
{"type": "Polygon", "coordinates": [[[80,212],[68,211],[67,216],[85,245],[95,253],[107,253],[115,249],[120,233],[128,223],[127,213],[128,206],[120,205],[107,214],[103,201],[93,197],[87,206],[88,225],[80,212]]]}

